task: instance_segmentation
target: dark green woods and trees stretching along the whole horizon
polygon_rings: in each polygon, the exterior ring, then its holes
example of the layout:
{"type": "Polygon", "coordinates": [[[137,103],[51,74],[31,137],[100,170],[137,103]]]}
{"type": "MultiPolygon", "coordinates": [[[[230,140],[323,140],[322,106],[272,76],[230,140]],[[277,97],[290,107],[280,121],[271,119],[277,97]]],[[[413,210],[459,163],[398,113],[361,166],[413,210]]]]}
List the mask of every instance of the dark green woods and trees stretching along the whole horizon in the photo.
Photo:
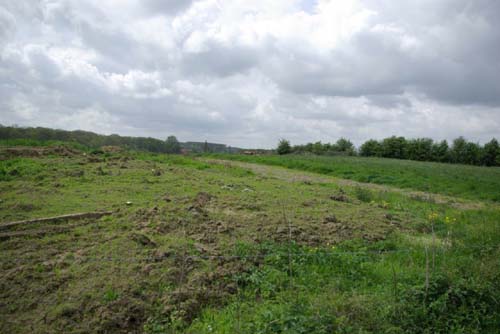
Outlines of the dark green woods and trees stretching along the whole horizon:
{"type": "MultiPolygon", "coordinates": [[[[100,149],[102,146],[119,146],[124,149],[154,153],[239,153],[240,148],[208,142],[180,143],[175,136],[166,140],[144,137],[124,137],[116,134],[105,136],[87,131],[64,131],[48,128],[4,127],[0,125],[0,143],[40,146],[54,143],[69,143],[81,148],[100,149]]],[[[262,151],[262,150],[261,150],[262,151]]],[[[263,150],[264,153],[270,153],[263,150]]],[[[291,146],[290,141],[281,139],[276,153],[313,154],[327,156],[354,156],[393,158],[402,160],[446,162],[477,166],[500,166],[500,145],[492,139],[484,146],[468,142],[463,137],[455,139],[451,145],[447,141],[434,142],[429,138],[405,139],[392,136],[381,141],[370,139],[356,149],[354,144],[340,138],[336,143],[308,143],[291,146]]]]}

